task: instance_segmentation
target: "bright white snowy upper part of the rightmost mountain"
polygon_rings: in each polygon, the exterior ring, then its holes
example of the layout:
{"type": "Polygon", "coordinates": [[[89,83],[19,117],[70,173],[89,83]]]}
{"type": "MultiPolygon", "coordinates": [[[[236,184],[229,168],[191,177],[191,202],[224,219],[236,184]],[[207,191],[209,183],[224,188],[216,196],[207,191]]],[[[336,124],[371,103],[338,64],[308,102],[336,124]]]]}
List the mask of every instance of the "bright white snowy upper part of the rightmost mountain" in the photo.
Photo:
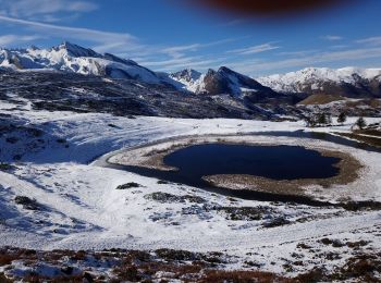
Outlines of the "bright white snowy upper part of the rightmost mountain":
{"type": "Polygon", "coordinates": [[[312,90],[322,89],[323,83],[346,83],[356,85],[360,79],[376,79],[381,82],[381,69],[360,69],[351,66],[335,70],[328,67],[307,67],[297,72],[257,78],[262,85],[271,87],[276,91],[286,93],[300,93],[308,86],[312,90]]]}

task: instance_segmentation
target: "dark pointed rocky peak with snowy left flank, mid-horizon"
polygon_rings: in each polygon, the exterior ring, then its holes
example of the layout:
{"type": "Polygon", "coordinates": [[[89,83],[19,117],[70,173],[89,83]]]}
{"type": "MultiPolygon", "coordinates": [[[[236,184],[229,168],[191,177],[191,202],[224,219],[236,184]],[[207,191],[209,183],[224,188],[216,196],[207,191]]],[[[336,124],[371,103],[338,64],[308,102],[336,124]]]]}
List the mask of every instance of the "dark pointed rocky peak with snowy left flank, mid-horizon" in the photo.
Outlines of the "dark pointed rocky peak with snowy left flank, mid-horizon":
{"type": "Polygon", "coordinates": [[[218,71],[209,69],[205,74],[186,69],[171,74],[170,77],[183,84],[183,88],[195,94],[242,96],[249,93],[272,91],[257,81],[226,66],[221,66],[218,71]]]}

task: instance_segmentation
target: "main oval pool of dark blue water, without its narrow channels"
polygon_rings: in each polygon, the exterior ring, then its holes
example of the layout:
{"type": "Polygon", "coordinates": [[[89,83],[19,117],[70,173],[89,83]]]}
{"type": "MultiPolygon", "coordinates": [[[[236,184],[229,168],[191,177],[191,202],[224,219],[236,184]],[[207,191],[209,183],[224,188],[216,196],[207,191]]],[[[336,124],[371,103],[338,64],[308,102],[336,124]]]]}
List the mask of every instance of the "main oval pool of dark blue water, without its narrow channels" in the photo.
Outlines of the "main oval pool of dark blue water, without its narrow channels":
{"type": "Polygon", "coordinates": [[[339,158],[298,146],[195,145],[164,158],[184,180],[246,174],[272,180],[327,179],[339,174],[339,158]]]}

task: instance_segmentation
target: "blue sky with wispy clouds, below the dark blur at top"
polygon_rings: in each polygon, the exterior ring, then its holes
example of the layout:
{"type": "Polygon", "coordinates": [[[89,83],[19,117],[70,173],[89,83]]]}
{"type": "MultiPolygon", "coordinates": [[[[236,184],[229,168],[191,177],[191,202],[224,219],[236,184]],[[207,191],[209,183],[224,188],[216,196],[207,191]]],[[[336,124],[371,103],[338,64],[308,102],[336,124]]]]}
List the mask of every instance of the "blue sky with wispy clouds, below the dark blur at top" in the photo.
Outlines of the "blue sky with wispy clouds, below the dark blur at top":
{"type": "Polygon", "coordinates": [[[381,67],[381,1],[292,20],[242,19],[183,0],[0,0],[0,46],[69,40],[155,71],[226,65],[260,76],[307,66],[381,67]]]}

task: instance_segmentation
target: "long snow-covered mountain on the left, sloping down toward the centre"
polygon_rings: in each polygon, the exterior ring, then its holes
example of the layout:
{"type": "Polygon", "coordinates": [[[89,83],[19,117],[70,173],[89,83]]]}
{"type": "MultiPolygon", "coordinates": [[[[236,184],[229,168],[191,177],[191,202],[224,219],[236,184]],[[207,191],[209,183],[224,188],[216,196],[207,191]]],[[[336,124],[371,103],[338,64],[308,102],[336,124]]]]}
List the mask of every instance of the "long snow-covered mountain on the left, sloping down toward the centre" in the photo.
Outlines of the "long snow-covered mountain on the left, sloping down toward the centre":
{"type": "Polygon", "coordinates": [[[158,84],[157,74],[132,60],[99,54],[70,42],[50,49],[1,49],[0,67],[11,70],[57,70],[84,75],[133,78],[158,84]]]}

